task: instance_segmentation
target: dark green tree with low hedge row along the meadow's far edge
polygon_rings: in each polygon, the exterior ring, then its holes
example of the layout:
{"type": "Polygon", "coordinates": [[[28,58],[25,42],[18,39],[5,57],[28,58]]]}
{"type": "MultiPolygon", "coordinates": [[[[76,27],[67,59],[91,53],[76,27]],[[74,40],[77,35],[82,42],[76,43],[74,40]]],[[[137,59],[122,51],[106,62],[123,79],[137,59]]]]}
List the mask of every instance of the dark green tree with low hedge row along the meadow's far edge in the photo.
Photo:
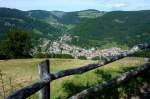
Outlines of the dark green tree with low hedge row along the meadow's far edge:
{"type": "MultiPolygon", "coordinates": [[[[6,37],[0,41],[0,59],[17,58],[74,59],[70,54],[35,53],[33,52],[31,32],[23,29],[11,29],[6,37]]],[[[79,56],[78,58],[86,59],[85,56],[79,56]]]]}

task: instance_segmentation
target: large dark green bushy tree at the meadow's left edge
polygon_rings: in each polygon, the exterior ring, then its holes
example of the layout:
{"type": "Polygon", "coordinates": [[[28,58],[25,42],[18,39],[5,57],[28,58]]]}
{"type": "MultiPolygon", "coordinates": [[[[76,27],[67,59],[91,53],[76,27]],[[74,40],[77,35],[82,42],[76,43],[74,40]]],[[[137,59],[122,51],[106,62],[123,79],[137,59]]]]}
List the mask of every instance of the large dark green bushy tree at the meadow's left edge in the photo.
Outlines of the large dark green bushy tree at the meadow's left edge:
{"type": "Polygon", "coordinates": [[[32,41],[29,31],[10,29],[0,41],[0,59],[31,57],[32,41]]]}

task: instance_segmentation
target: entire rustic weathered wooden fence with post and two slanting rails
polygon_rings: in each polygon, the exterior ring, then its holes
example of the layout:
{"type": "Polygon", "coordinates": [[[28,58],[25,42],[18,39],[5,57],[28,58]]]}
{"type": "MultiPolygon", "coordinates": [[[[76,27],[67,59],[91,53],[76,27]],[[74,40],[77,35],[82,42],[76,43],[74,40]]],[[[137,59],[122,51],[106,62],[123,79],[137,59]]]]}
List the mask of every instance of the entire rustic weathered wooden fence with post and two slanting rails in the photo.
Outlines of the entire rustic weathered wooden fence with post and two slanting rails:
{"type": "MultiPolygon", "coordinates": [[[[66,76],[70,76],[70,75],[82,74],[82,73],[88,72],[90,70],[104,66],[108,63],[114,62],[116,60],[122,59],[122,58],[130,56],[130,55],[133,55],[134,53],[139,52],[140,50],[143,50],[143,49],[150,49],[150,44],[145,43],[145,44],[136,45],[128,51],[122,52],[115,56],[110,56],[110,57],[104,59],[103,61],[98,62],[97,64],[89,64],[89,65],[86,65],[83,67],[67,69],[67,70],[56,72],[56,73],[49,72],[49,65],[50,65],[49,60],[43,61],[39,64],[40,80],[38,80],[37,82],[35,82],[32,85],[26,86],[16,92],[12,93],[6,99],[25,99],[25,98],[33,95],[34,93],[36,93],[39,90],[41,91],[40,99],[50,99],[50,82],[52,82],[53,80],[56,80],[56,79],[59,79],[62,77],[66,77],[66,76]]],[[[148,58],[148,60],[150,60],[150,59],[148,58]]],[[[139,66],[138,68],[136,68],[134,70],[125,72],[125,73],[121,74],[120,76],[118,76],[106,83],[98,84],[91,88],[85,89],[85,90],[73,95],[69,99],[81,99],[81,98],[84,98],[85,96],[92,94],[93,92],[98,92],[98,91],[102,91],[103,89],[111,88],[112,86],[114,86],[118,83],[122,83],[126,79],[130,79],[134,76],[137,76],[149,69],[150,69],[150,61],[142,66],[139,66]]]]}

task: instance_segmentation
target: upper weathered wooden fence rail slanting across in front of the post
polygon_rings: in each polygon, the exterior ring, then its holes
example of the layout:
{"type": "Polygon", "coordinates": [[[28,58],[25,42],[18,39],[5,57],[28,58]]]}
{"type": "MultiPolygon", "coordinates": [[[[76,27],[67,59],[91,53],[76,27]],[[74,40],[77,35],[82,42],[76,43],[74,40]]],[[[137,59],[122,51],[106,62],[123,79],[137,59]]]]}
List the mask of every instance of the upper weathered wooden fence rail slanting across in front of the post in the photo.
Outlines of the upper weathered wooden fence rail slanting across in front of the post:
{"type": "Polygon", "coordinates": [[[79,67],[79,68],[63,70],[63,71],[59,71],[57,73],[50,73],[47,78],[45,78],[43,80],[39,80],[32,85],[29,85],[27,87],[24,87],[24,88],[16,91],[12,95],[8,96],[6,99],[24,99],[24,98],[27,98],[27,97],[31,96],[32,94],[36,93],[37,91],[39,91],[44,86],[48,85],[53,80],[56,80],[56,79],[59,79],[61,77],[65,77],[65,76],[74,75],[74,74],[82,74],[82,73],[85,73],[87,71],[93,70],[95,68],[104,66],[108,63],[122,59],[126,56],[133,55],[134,53],[136,53],[140,50],[149,49],[149,48],[150,48],[150,44],[147,44],[147,43],[138,44],[128,51],[122,52],[122,53],[115,55],[115,56],[108,57],[105,60],[100,61],[97,64],[89,64],[89,65],[79,67]]]}

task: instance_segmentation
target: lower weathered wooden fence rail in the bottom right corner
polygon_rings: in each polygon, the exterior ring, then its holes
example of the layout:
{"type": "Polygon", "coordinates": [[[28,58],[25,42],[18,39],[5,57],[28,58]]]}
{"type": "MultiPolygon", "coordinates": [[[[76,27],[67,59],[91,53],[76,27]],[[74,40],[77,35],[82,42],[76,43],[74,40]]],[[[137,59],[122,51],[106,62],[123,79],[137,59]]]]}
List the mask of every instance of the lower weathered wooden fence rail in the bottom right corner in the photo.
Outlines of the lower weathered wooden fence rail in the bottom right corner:
{"type": "Polygon", "coordinates": [[[149,69],[150,69],[150,63],[146,63],[144,65],[139,66],[136,69],[125,72],[125,73],[121,74],[120,76],[118,76],[106,83],[98,84],[96,86],[85,89],[85,90],[73,95],[69,99],[84,99],[86,96],[89,96],[95,92],[101,92],[103,90],[112,88],[113,86],[118,85],[126,80],[129,80],[139,74],[145,73],[149,69]]]}

